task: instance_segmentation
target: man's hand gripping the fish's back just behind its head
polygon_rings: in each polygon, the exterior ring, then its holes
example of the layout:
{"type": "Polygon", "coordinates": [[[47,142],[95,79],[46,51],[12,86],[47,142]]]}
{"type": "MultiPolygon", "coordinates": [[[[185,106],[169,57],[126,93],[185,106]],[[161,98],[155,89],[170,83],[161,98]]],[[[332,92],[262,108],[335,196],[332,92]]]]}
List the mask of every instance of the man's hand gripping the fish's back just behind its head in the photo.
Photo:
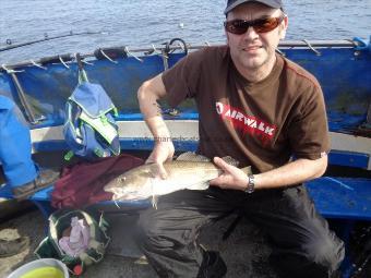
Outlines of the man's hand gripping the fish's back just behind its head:
{"type": "Polygon", "coordinates": [[[146,164],[154,164],[154,176],[163,180],[167,178],[167,172],[164,168],[164,162],[172,159],[175,147],[171,141],[156,142],[154,149],[145,161],[146,164]]]}

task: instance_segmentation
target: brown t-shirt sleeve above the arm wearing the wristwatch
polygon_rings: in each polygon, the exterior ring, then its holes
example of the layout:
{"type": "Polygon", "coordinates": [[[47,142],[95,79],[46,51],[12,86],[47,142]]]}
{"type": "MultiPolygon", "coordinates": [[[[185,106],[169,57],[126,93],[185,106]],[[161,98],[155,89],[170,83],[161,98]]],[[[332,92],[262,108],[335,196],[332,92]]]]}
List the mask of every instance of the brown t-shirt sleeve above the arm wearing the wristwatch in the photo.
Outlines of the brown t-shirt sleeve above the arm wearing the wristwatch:
{"type": "Polygon", "coordinates": [[[290,146],[297,158],[319,159],[330,152],[330,135],[323,93],[313,86],[297,104],[289,125],[290,146]]]}

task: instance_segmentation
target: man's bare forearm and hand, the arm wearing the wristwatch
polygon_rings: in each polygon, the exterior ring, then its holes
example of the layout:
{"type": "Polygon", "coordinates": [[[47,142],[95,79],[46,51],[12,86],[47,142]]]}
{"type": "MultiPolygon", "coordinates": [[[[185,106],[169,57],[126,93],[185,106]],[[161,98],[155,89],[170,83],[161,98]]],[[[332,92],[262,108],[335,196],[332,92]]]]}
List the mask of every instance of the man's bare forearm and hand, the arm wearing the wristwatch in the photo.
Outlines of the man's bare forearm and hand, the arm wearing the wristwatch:
{"type": "MultiPolygon", "coordinates": [[[[223,189],[246,190],[248,176],[240,169],[226,164],[216,157],[214,162],[224,170],[224,173],[212,180],[211,185],[223,189]]],[[[327,167],[327,156],[311,160],[299,158],[271,171],[254,174],[255,190],[275,189],[287,185],[299,184],[321,177],[327,167]]]]}

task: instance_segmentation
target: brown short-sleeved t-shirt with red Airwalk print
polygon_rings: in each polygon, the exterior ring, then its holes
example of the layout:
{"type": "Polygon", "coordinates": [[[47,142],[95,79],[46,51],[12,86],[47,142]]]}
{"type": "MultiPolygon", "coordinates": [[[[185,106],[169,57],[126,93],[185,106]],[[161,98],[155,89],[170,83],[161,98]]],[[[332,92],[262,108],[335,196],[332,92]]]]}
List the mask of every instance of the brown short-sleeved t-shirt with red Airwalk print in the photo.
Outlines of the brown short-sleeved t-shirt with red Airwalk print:
{"type": "Polygon", "coordinates": [[[291,156],[318,159],[330,150],[321,86],[278,55],[271,74],[259,83],[237,71],[227,46],[188,55],[163,81],[171,107],[195,99],[199,153],[210,158],[231,156],[240,166],[265,172],[291,156]]]}

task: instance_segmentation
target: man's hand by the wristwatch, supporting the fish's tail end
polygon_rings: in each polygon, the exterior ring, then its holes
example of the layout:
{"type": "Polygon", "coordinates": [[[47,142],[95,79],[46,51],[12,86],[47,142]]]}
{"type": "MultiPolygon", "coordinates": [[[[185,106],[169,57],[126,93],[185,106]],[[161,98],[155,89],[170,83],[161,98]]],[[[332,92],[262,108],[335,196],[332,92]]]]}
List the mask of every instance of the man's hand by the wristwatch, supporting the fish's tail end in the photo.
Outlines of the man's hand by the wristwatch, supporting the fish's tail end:
{"type": "Polygon", "coordinates": [[[228,165],[219,157],[214,158],[214,164],[219,167],[224,173],[211,180],[210,185],[230,190],[244,190],[248,186],[248,176],[241,169],[228,165]]]}

